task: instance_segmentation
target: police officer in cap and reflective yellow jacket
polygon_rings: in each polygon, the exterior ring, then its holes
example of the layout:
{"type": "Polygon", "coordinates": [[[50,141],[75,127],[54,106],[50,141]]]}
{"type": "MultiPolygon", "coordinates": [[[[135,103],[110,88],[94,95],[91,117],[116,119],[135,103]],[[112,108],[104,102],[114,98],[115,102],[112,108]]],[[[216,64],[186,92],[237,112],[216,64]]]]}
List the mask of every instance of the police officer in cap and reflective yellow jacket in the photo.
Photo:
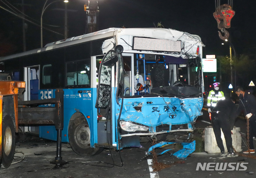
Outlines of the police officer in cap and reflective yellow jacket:
{"type": "Polygon", "coordinates": [[[225,100],[224,93],[222,91],[219,91],[220,83],[216,82],[213,84],[213,86],[214,86],[214,90],[211,90],[209,92],[208,102],[207,102],[209,113],[211,112],[211,109],[216,106],[218,101],[225,100]]]}

